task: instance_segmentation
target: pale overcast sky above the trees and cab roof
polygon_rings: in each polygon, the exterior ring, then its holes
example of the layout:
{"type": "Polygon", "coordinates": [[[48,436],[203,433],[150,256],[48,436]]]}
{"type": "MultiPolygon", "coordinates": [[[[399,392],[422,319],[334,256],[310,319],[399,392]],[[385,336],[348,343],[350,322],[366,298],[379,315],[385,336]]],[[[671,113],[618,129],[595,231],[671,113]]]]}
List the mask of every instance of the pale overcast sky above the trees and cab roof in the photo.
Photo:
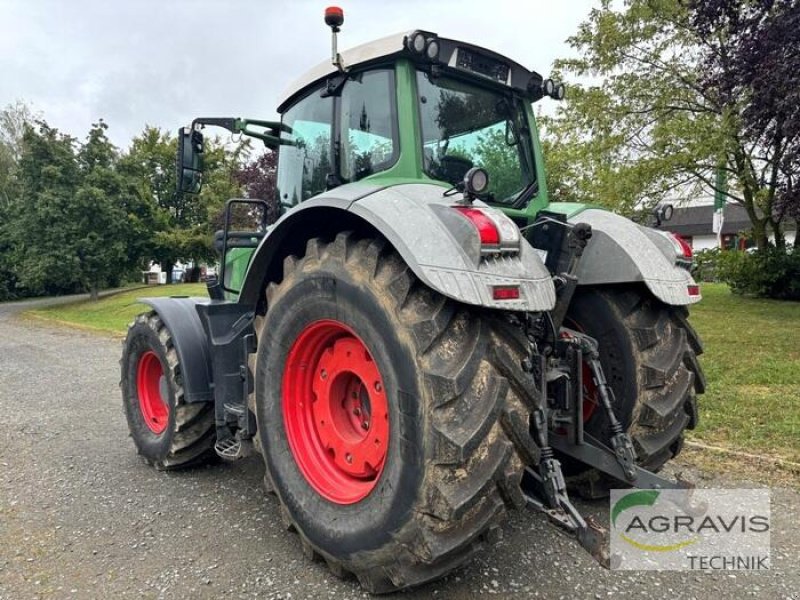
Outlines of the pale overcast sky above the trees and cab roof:
{"type": "MultiPolygon", "coordinates": [[[[147,123],[276,117],[286,85],[330,53],[326,0],[0,0],[0,107],[23,100],[83,139],[147,123]]],[[[340,48],[411,29],[506,54],[547,74],[591,0],[342,0],[340,48]]]]}

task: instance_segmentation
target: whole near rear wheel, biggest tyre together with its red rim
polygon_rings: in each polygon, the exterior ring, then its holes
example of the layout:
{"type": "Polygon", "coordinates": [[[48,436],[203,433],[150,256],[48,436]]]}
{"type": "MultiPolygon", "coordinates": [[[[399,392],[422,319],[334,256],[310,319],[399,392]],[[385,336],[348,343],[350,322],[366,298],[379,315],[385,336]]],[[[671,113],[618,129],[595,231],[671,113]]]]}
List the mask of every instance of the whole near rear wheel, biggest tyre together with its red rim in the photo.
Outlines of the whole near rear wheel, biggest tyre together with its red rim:
{"type": "Polygon", "coordinates": [[[385,593],[496,540],[507,508],[523,504],[512,440],[528,421],[502,375],[519,347],[499,322],[421,285],[383,241],[346,233],[286,258],[266,296],[260,446],[306,554],[385,593]],[[369,422],[350,422],[356,408],[369,422]],[[340,432],[324,432],[333,422],[340,432]],[[365,441],[378,450],[358,449],[365,441]]]}

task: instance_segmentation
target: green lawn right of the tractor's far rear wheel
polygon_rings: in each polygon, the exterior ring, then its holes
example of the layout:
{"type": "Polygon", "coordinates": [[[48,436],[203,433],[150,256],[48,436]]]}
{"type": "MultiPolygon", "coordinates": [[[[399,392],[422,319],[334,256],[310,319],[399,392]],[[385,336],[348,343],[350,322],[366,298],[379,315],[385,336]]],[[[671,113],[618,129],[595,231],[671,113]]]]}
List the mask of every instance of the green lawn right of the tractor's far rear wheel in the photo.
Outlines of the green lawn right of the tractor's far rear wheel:
{"type": "Polygon", "coordinates": [[[698,441],[800,462],[800,303],[704,284],[690,322],[705,344],[698,441]]]}

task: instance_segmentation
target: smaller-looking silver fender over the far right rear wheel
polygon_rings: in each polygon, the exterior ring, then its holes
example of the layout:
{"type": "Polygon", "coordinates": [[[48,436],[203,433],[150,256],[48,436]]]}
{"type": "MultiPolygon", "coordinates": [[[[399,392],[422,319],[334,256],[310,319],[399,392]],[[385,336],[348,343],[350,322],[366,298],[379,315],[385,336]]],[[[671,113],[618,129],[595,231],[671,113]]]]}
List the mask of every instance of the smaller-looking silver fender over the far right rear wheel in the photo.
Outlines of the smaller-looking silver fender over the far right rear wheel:
{"type": "Polygon", "coordinates": [[[640,281],[665,304],[700,301],[699,295],[689,295],[694,278],[675,265],[675,249],[658,231],[599,209],[585,210],[569,221],[588,223],[593,232],[578,267],[579,285],[640,281]]]}

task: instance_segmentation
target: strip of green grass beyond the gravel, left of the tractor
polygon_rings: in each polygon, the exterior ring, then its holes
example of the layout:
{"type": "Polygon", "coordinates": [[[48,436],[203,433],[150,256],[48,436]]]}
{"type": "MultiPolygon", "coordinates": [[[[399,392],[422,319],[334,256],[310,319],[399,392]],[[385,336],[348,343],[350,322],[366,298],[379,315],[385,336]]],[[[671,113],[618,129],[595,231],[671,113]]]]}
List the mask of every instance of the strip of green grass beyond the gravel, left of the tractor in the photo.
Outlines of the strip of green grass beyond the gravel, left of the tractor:
{"type": "Polygon", "coordinates": [[[83,300],[73,304],[37,308],[25,312],[25,316],[46,319],[85,329],[124,334],[128,323],[140,312],[147,310],[138,298],[154,296],[208,296],[204,283],[158,285],[121,292],[96,302],[83,300]]]}

